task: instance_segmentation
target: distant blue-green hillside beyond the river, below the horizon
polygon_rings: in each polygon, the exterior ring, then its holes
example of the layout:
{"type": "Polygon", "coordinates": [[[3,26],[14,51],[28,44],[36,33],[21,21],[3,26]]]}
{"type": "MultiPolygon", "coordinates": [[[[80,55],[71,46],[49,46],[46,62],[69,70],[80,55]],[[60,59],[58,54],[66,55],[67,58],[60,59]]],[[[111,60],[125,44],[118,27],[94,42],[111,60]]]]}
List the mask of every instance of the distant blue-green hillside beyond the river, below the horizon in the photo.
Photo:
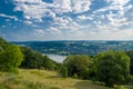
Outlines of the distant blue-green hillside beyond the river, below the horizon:
{"type": "Polygon", "coordinates": [[[42,53],[96,55],[105,50],[133,50],[133,41],[25,41],[12,42],[42,53]]]}

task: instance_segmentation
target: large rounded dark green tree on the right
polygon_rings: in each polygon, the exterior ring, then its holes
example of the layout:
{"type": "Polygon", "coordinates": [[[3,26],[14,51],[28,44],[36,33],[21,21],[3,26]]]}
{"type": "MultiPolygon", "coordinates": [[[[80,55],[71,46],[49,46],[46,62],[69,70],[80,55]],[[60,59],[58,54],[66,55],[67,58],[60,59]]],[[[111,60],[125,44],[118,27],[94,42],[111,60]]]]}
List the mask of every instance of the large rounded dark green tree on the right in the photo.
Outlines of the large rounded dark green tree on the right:
{"type": "Polygon", "coordinates": [[[122,51],[105,51],[96,57],[98,79],[113,87],[130,77],[130,58],[122,51]]]}

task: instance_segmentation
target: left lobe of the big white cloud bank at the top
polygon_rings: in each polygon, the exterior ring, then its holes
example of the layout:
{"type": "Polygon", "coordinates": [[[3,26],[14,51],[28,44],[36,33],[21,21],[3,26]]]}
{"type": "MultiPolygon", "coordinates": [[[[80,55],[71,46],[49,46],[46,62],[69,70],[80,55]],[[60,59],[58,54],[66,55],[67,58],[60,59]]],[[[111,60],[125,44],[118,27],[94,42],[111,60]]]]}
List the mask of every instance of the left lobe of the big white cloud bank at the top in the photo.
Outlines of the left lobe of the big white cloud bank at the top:
{"type": "Polygon", "coordinates": [[[14,0],[14,3],[17,6],[14,11],[23,11],[23,17],[28,20],[42,21],[42,18],[50,12],[49,3],[42,0],[14,0]]]}

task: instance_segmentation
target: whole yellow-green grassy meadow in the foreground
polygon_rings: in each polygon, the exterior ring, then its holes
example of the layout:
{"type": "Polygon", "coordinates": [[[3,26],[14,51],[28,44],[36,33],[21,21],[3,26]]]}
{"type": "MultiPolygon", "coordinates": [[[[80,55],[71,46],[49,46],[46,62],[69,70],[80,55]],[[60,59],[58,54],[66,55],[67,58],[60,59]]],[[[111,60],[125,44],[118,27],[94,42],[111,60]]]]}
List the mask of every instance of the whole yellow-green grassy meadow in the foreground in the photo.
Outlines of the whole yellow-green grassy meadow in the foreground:
{"type": "Polygon", "coordinates": [[[20,69],[19,75],[0,72],[0,89],[111,89],[89,80],[61,78],[55,71],[20,69]]]}

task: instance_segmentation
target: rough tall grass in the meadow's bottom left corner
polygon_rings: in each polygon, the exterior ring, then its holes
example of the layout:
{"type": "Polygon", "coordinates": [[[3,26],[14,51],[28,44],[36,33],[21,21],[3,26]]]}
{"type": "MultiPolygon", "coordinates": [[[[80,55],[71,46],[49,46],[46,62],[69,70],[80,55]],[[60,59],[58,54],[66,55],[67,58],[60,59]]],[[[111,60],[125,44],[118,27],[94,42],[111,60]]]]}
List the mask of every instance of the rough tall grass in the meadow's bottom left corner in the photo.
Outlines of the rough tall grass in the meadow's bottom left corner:
{"type": "Polygon", "coordinates": [[[24,80],[22,77],[12,73],[4,75],[4,79],[0,81],[0,89],[59,89],[39,81],[24,80]]]}

